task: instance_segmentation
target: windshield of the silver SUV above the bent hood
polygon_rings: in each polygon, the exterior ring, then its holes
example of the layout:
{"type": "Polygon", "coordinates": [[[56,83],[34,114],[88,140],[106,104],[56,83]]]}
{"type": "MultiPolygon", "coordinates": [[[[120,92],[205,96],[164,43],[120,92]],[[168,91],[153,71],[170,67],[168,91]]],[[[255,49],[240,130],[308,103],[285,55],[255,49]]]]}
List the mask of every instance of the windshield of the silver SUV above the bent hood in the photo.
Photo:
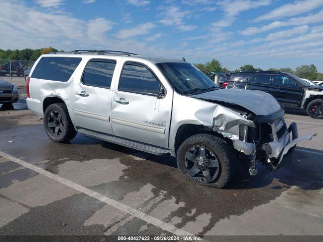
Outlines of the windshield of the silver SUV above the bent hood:
{"type": "Polygon", "coordinates": [[[218,86],[200,70],[188,63],[158,63],[159,70],[180,94],[207,92],[218,86]]]}

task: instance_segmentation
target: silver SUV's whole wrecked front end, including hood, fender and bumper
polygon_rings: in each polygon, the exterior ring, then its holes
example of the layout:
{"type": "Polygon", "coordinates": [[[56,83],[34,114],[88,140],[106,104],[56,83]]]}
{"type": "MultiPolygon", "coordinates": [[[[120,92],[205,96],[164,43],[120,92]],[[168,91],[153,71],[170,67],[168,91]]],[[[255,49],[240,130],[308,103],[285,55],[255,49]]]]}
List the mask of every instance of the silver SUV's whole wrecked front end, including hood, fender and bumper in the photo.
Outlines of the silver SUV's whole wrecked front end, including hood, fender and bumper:
{"type": "Polygon", "coordinates": [[[257,173],[258,161],[270,170],[289,163],[296,144],[315,135],[298,137],[296,123],[287,128],[284,109],[261,91],[221,89],[194,97],[218,104],[212,130],[230,139],[240,158],[251,161],[251,175],[257,173]]]}

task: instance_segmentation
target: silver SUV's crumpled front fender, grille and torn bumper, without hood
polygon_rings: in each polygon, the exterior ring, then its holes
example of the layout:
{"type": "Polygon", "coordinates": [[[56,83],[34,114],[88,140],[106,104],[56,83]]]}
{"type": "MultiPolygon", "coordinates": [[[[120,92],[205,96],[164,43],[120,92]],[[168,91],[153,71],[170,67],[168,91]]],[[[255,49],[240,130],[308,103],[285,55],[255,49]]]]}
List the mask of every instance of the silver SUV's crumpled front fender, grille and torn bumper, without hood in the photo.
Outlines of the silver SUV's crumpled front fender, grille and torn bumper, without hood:
{"type": "Polygon", "coordinates": [[[291,162],[298,142],[315,135],[298,137],[296,123],[287,128],[284,113],[281,109],[270,115],[255,115],[239,106],[218,105],[212,130],[232,140],[233,147],[251,161],[251,175],[257,173],[257,162],[272,171],[291,162]]]}

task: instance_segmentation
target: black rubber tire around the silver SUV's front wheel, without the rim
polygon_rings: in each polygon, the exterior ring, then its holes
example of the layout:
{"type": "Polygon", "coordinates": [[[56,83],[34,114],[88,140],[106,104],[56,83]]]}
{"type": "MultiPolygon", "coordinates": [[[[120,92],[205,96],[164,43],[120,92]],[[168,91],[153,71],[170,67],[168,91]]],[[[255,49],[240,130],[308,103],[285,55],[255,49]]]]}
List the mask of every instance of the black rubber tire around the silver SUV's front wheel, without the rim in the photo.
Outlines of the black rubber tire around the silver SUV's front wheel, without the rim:
{"type": "Polygon", "coordinates": [[[177,153],[177,165],[180,173],[186,179],[194,181],[195,183],[213,187],[213,188],[224,188],[234,175],[236,169],[236,155],[233,152],[230,145],[223,139],[208,135],[208,134],[197,134],[187,138],[178,149],[177,153]],[[217,178],[210,183],[200,183],[192,178],[188,173],[185,165],[185,154],[194,146],[204,146],[211,150],[218,158],[220,164],[220,170],[217,178]]]}

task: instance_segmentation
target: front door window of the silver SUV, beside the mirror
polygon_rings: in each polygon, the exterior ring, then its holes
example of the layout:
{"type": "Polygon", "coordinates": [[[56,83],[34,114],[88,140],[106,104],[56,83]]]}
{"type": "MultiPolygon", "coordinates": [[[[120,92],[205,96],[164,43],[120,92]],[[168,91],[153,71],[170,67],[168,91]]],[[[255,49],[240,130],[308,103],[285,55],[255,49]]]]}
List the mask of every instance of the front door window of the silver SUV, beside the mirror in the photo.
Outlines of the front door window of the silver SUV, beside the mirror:
{"type": "Polygon", "coordinates": [[[121,73],[118,90],[146,95],[157,95],[159,81],[146,67],[126,63],[121,73]]]}

